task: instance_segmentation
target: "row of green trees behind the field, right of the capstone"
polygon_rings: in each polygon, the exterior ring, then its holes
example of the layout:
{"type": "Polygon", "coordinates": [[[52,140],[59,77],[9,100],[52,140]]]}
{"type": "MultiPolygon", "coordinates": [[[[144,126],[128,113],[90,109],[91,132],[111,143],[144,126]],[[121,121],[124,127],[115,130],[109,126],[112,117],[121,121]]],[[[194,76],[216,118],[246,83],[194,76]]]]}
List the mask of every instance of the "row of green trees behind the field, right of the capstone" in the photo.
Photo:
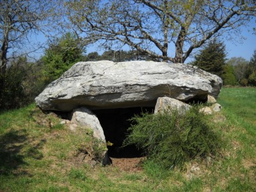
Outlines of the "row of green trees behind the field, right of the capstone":
{"type": "Polygon", "coordinates": [[[223,42],[212,40],[206,44],[189,63],[223,79],[224,85],[256,86],[256,50],[250,61],[244,58],[230,58],[223,42]]]}

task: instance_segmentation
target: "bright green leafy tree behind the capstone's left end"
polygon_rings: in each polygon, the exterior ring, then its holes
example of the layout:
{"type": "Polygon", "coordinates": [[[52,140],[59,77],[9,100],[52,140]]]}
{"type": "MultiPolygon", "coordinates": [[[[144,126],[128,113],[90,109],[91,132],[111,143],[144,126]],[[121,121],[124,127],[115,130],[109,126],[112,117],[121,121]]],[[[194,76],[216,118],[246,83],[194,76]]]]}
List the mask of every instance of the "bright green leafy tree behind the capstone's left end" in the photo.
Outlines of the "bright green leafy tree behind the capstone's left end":
{"type": "Polygon", "coordinates": [[[72,33],[56,38],[42,57],[46,83],[58,79],[74,63],[83,58],[84,45],[72,33]]]}

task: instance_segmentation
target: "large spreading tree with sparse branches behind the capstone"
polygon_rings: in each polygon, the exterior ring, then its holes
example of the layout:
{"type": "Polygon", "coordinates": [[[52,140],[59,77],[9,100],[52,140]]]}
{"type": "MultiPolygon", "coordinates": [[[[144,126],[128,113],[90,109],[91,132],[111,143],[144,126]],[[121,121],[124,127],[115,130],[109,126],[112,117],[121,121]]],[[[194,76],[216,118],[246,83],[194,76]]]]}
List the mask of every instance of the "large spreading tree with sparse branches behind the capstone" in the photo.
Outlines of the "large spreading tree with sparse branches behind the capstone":
{"type": "Polygon", "coordinates": [[[216,36],[240,34],[256,12],[253,0],[81,0],[68,1],[65,8],[68,26],[86,44],[99,42],[113,50],[129,45],[173,63],[184,63],[216,36]]]}

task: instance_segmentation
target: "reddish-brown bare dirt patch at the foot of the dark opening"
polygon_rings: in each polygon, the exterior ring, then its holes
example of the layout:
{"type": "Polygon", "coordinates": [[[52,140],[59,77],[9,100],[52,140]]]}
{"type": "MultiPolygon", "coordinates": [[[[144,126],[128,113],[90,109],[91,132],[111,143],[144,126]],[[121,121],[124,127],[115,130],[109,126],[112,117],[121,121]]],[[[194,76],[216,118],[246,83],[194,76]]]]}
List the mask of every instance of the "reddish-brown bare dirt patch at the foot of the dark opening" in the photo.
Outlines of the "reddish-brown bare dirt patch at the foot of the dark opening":
{"type": "Polygon", "coordinates": [[[134,157],[134,158],[113,158],[112,164],[114,167],[119,168],[125,172],[141,172],[142,171],[142,162],[145,160],[145,157],[134,157]]]}

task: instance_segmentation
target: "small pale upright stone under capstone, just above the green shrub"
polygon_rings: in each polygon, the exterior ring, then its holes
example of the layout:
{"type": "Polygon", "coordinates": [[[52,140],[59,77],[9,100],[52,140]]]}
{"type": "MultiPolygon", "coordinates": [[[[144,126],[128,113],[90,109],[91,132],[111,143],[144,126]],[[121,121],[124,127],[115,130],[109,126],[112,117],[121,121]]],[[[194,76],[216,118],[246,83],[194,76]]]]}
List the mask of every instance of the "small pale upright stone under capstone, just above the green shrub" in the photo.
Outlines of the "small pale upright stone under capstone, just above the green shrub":
{"type": "Polygon", "coordinates": [[[173,99],[170,97],[159,97],[156,102],[156,107],[154,113],[161,113],[162,111],[177,109],[179,113],[183,114],[185,111],[189,110],[191,106],[180,100],[173,99]]]}

